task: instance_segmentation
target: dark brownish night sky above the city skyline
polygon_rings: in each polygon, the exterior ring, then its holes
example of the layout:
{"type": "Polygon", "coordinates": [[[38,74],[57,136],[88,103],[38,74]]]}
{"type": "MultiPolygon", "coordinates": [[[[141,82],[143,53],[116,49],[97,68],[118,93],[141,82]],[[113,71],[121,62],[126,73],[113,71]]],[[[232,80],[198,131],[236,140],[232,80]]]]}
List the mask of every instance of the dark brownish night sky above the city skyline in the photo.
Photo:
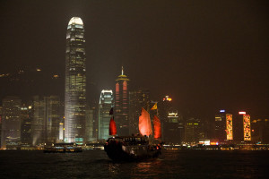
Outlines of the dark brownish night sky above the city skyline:
{"type": "Polygon", "coordinates": [[[63,95],[66,28],[78,16],[89,100],[114,90],[124,65],[132,89],[169,95],[183,113],[212,117],[224,108],[269,118],[268,7],[257,0],[2,0],[0,73],[25,66],[58,72],[63,95]]]}

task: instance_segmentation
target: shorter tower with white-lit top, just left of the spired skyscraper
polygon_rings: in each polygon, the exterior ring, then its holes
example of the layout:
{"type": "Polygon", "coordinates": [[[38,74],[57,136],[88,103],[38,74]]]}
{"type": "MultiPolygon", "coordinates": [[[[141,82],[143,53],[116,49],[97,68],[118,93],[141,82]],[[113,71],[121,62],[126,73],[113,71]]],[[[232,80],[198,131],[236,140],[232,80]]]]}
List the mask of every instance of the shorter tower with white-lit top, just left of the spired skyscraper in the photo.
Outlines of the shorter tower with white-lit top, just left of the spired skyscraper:
{"type": "Polygon", "coordinates": [[[108,140],[109,137],[109,111],[113,107],[112,90],[102,90],[99,102],[99,139],[108,140]]]}

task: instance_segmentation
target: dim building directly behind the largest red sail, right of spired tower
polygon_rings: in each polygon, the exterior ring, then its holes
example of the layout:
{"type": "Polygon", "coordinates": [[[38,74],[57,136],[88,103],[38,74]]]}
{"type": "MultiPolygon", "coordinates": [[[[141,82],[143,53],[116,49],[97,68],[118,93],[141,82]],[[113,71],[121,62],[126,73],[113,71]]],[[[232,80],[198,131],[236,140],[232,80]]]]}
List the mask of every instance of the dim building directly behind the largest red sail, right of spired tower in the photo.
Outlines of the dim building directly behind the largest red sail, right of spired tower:
{"type": "MultiPolygon", "coordinates": [[[[129,92],[129,130],[130,133],[138,133],[139,115],[142,107],[150,111],[150,91],[149,90],[132,90],[129,92]]],[[[154,105],[154,104],[153,104],[154,105]]],[[[151,115],[153,116],[153,115],[151,115]]]]}

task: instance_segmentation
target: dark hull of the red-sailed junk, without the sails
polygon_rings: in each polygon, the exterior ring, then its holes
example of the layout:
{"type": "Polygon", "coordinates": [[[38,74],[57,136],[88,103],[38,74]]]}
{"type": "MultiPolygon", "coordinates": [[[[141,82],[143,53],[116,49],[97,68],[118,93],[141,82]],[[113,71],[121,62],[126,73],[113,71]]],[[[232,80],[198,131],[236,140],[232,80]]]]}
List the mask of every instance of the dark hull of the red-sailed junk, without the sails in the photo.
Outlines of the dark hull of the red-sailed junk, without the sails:
{"type": "Polygon", "coordinates": [[[161,147],[157,145],[124,145],[120,141],[110,141],[104,146],[108,158],[113,161],[137,161],[158,158],[161,147]]]}

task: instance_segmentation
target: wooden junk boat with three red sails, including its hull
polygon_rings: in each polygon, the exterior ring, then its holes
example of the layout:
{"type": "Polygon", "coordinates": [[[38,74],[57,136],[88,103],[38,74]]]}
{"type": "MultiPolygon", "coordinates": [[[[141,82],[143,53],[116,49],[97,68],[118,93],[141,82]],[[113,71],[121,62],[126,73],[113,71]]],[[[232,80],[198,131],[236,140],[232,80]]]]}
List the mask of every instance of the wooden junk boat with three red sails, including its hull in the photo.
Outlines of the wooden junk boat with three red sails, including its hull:
{"type": "Polygon", "coordinates": [[[139,132],[137,136],[116,136],[116,123],[111,117],[109,124],[109,138],[104,146],[108,158],[113,161],[135,161],[148,158],[157,158],[161,154],[161,122],[154,115],[154,139],[152,135],[152,124],[150,114],[142,108],[139,116],[139,132]]]}

